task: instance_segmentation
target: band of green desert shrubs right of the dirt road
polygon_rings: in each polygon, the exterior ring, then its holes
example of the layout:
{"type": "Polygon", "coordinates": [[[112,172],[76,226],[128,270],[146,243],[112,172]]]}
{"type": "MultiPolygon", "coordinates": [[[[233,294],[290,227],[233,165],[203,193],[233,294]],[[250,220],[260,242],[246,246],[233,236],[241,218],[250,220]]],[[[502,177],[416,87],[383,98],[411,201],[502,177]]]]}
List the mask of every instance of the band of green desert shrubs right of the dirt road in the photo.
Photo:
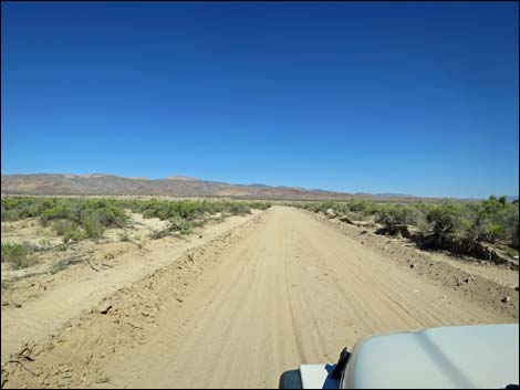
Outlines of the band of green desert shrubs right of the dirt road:
{"type": "Polygon", "coordinates": [[[299,207],[345,221],[371,218],[381,234],[409,238],[423,247],[445,249],[481,256],[482,244],[500,245],[508,253],[519,247],[519,203],[496,196],[481,202],[383,203],[367,200],[308,202],[299,207]],[[409,232],[414,228],[414,232],[409,232]]]}

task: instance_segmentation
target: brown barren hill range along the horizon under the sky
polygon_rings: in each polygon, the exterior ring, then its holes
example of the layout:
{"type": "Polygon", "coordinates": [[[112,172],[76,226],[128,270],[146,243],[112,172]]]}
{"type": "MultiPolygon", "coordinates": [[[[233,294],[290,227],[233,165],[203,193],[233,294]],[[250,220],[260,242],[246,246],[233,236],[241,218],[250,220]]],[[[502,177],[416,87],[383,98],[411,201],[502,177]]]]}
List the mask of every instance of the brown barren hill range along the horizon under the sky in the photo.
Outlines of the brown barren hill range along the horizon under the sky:
{"type": "MultiPolygon", "coordinates": [[[[230,185],[219,181],[206,181],[185,176],[171,176],[165,179],[127,178],[105,173],[91,175],[2,175],[4,194],[162,194],[171,197],[229,197],[243,199],[279,200],[349,200],[364,198],[372,200],[414,201],[410,196],[351,194],[325,190],[306,190],[293,187],[271,187],[266,185],[230,185]]],[[[435,201],[438,199],[430,198],[435,201]]]]}

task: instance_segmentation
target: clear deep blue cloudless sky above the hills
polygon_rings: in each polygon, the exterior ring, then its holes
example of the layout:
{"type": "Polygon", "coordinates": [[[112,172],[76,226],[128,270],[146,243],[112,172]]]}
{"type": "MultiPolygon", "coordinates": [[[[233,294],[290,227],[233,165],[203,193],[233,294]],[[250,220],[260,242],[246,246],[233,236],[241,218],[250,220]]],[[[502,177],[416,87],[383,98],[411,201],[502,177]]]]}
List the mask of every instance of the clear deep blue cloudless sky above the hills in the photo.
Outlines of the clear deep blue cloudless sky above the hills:
{"type": "Polygon", "coordinates": [[[518,193],[517,2],[1,7],[2,173],[518,193]]]}

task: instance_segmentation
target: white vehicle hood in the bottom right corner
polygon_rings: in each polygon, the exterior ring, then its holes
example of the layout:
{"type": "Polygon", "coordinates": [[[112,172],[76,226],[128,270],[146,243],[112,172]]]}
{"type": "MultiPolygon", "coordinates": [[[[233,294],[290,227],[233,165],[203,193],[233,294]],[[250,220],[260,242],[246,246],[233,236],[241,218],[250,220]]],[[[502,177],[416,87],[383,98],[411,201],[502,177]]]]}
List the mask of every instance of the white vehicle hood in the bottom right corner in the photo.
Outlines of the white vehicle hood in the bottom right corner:
{"type": "Polygon", "coordinates": [[[342,387],[498,389],[518,384],[518,324],[368,337],[354,347],[342,387]]]}

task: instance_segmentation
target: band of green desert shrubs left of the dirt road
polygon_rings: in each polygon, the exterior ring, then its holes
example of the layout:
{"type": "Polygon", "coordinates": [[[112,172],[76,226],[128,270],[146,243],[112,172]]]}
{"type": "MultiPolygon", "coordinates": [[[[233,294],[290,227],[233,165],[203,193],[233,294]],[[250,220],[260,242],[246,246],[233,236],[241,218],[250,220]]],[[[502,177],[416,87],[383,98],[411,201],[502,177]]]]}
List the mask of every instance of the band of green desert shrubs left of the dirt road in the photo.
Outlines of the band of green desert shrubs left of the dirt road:
{"type": "MultiPolygon", "coordinates": [[[[154,233],[155,238],[169,232],[190,234],[193,229],[205,223],[216,213],[247,214],[251,209],[269,208],[264,202],[209,201],[209,200],[115,200],[115,199],[70,199],[10,197],[2,199],[2,221],[38,218],[44,226],[52,223],[52,230],[63,238],[63,243],[85,239],[100,240],[107,228],[124,228],[128,222],[125,210],[143,213],[144,218],[169,221],[165,232],[154,233]]],[[[128,241],[124,238],[122,241],[128,241]]]]}

